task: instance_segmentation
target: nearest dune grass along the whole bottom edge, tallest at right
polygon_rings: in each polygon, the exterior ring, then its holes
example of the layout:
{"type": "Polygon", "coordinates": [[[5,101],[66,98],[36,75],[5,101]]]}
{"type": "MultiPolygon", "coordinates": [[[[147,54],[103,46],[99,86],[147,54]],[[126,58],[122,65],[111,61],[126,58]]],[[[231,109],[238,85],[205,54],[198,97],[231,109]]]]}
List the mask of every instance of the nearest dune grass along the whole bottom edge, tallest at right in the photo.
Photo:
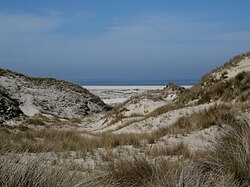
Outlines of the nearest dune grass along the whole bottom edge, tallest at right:
{"type": "Polygon", "coordinates": [[[112,159],[90,175],[72,167],[54,167],[43,158],[21,162],[13,154],[0,159],[1,186],[249,186],[250,126],[235,120],[215,143],[195,157],[152,160],[112,159]]]}

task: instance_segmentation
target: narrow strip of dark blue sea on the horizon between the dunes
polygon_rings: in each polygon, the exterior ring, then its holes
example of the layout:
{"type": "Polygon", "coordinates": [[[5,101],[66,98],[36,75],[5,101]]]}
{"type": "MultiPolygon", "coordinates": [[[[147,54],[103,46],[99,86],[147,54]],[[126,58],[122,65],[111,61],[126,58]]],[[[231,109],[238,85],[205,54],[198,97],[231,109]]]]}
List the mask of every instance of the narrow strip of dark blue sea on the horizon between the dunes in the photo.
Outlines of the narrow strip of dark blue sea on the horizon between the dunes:
{"type": "Polygon", "coordinates": [[[172,82],[177,85],[192,86],[199,79],[173,80],[70,80],[84,86],[162,86],[172,82]]]}

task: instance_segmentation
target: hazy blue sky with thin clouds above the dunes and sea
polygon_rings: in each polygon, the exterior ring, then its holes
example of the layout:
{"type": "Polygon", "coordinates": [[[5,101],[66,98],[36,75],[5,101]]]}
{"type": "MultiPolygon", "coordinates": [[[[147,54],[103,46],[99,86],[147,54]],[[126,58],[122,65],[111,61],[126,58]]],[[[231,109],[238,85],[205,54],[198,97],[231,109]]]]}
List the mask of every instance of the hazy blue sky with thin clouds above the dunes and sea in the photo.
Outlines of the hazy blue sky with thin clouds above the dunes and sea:
{"type": "Polygon", "coordinates": [[[199,79],[250,50],[249,0],[0,0],[0,67],[67,80],[199,79]]]}

